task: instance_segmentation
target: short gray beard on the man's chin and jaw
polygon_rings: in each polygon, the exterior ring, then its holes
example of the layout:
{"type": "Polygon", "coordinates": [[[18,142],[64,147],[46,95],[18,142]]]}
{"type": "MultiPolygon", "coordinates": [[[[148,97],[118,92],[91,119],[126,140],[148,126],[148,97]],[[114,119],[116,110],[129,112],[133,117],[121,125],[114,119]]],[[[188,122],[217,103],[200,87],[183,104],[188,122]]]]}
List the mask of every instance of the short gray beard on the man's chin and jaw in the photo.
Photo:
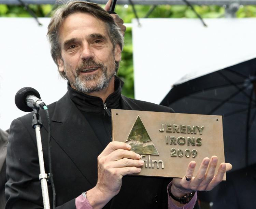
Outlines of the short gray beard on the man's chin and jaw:
{"type": "Polygon", "coordinates": [[[115,73],[111,75],[107,75],[107,70],[102,69],[102,74],[97,78],[97,75],[91,75],[86,77],[76,77],[74,83],[72,85],[75,87],[77,91],[81,91],[83,93],[91,93],[94,91],[100,91],[109,86],[109,82],[113,78],[115,73]],[[94,86],[87,86],[86,82],[97,79],[97,83],[94,86]]]}

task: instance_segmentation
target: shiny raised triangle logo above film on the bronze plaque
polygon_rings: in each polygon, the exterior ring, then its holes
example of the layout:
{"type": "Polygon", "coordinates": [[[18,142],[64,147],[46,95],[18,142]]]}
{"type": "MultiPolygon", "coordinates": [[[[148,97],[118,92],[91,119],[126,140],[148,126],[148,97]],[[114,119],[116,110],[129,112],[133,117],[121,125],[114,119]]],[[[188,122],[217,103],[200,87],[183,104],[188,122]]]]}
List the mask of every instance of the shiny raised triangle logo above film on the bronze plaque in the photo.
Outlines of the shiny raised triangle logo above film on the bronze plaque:
{"type": "Polygon", "coordinates": [[[126,140],[126,143],[131,145],[131,151],[138,154],[159,155],[154,143],[147,133],[140,116],[137,117],[132,126],[131,132],[126,140]]]}

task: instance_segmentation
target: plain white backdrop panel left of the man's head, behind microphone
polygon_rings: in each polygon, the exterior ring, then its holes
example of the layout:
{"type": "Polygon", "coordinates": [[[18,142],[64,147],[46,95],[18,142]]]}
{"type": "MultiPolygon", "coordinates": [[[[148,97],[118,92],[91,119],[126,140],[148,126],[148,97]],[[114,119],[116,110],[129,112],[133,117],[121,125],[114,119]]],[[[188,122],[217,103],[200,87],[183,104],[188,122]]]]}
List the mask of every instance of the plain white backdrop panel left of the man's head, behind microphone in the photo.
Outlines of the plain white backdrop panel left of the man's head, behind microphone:
{"type": "Polygon", "coordinates": [[[57,66],[46,39],[49,18],[0,18],[0,128],[8,129],[12,120],[25,115],[14,103],[22,87],[36,89],[50,104],[67,91],[66,81],[59,78],[57,66]]]}

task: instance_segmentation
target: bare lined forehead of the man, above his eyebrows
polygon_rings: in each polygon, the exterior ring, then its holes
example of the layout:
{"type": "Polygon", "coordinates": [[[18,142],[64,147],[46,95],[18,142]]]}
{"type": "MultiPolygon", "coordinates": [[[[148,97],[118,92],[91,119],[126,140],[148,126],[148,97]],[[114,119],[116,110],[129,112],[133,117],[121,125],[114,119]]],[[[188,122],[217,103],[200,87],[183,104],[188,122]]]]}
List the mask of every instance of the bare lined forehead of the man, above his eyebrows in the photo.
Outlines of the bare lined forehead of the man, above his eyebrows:
{"type": "Polygon", "coordinates": [[[101,34],[108,38],[105,23],[89,13],[74,13],[64,19],[59,30],[59,41],[71,38],[86,38],[90,34],[101,34]]]}

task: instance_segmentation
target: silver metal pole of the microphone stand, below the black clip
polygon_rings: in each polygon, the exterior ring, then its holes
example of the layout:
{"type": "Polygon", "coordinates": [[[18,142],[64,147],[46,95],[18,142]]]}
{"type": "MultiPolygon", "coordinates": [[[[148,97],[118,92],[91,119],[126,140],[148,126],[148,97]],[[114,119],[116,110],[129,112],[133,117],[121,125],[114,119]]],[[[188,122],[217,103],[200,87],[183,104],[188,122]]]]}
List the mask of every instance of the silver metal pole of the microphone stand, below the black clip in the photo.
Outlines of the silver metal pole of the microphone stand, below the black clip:
{"type": "Polygon", "coordinates": [[[35,135],[37,137],[37,150],[38,150],[38,158],[39,158],[39,166],[40,166],[40,174],[39,180],[41,182],[42,195],[43,195],[43,204],[44,209],[50,209],[50,201],[47,187],[47,174],[44,170],[44,158],[43,158],[43,148],[40,134],[40,125],[34,125],[35,135]]]}

